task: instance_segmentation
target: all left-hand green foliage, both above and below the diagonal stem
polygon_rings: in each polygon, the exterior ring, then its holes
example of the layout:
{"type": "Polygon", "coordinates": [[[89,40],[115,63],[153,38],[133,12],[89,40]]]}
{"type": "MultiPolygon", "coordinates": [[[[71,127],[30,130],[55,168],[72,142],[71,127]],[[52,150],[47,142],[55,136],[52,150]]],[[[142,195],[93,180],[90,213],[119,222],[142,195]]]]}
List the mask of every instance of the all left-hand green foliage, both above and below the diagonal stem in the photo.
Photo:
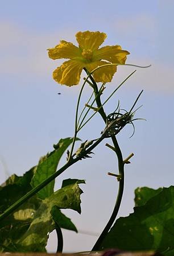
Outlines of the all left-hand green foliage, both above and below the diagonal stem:
{"type": "MultiPolygon", "coordinates": [[[[71,138],[60,139],[54,146],[55,150],[40,159],[38,166],[32,167],[23,176],[9,177],[0,187],[1,213],[31,191],[31,184],[37,185],[37,182],[41,183],[55,172],[63,152],[71,143],[71,138]]],[[[72,221],[60,209],[73,209],[81,213],[82,190],[78,186],[81,183],[85,181],[64,180],[62,188],[56,192],[53,192],[51,185],[0,221],[0,253],[45,251],[49,233],[55,229],[55,222],[60,228],[77,232],[72,221]]]]}

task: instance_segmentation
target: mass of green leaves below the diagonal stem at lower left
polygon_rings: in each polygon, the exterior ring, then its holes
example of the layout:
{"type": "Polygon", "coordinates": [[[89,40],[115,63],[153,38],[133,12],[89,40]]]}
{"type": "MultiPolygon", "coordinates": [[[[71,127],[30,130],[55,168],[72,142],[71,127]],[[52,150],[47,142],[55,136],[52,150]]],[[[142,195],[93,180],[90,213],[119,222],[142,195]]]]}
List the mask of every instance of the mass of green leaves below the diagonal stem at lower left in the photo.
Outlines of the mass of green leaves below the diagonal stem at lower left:
{"type": "Polygon", "coordinates": [[[77,232],[74,224],[61,213],[60,208],[81,212],[82,190],[78,186],[80,183],[85,181],[73,180],[73,183],[64,186],[44,200],[36,196],[31,197],[9,216],[8,222],[2,222],[0,251],[45,251],[48,235],[55,229],[55,221],[60,228],[77,232]]]}

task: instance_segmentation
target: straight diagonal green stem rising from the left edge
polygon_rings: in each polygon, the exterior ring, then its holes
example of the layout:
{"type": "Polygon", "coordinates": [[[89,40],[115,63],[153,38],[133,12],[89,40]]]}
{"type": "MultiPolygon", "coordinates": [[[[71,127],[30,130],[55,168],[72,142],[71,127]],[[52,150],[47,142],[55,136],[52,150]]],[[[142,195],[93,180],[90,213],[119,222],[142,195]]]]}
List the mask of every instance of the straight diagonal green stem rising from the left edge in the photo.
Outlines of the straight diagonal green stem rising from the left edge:
{"type": "MultiPolygon", "coordinates": [[[[105,138],[104,135],[102,135],[99,139],[97,139],[96,142],[90,146],[85,153],[88,154],[90,151],[92,151],[103,139],[105,138]]],[[[31,189],[26,195],[24,195],[21,199],[16,201],[13,205],[11,205],[9,208],[7,208],[2,214],[0,214],[0,221],[3,220],[5,217],[9,216],[10,213],[12,213],[15,209],[17,209],[20,205],[22,205],[26,200],[30,199],[30,197],[34,196],[37,192],[40,191],[40,189],[44,188],[45,185],[50,183],[52,180],[54,180],[57,176],[62,174],[65,170],[67,170],[68,167],[72,166],[72,164],[78,162],[78,160],[81,160],[81,156],[78,156],[75,159],[69,160],[63,167],[61,167],[58,171],[56,171],[54,174],[49,176],[46,180],[44,180],[42,183],[40,183],[37,187],[31,189]]]]}

